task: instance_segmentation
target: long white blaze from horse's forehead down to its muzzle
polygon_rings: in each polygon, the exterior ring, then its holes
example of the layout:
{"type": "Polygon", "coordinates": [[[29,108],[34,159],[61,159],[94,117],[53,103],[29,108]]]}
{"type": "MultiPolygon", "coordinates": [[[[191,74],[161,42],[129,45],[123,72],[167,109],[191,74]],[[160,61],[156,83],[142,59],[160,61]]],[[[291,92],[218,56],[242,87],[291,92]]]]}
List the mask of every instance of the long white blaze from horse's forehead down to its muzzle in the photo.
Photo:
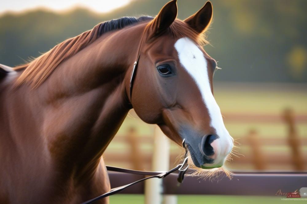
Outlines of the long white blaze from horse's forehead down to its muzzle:
{"type": "Polygon", "coordinates": [[[186,69],[199,88],[211,119],[210,125],[216,130],[217,135],[220,137],[214,141],[220,143],[220,155],[226,156],[231,150],[230,148],[232,148],[232,141],[224,126],[220,108],[211,92],[207,60],[204,57],[204,53],[196,43],[187,37],[177,40],[175,49],[178,52],[181,65],[186,69]]]}

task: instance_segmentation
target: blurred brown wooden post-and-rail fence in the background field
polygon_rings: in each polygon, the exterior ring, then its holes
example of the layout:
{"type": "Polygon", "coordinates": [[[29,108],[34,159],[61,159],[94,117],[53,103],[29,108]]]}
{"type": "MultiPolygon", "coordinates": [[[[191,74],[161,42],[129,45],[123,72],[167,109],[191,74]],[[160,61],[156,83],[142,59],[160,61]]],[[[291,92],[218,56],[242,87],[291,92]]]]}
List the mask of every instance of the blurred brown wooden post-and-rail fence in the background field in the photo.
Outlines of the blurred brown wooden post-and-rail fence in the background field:
{"type": "MultiPolygon", "coordinates": [[[[242,147],[249,148],[248,153],[233,157],[231,163],[227,163],[231,169],[242,169],[244,166],[249,166],[249,169],[267,170],[274,169],[274,165],[286,166],[287,170],[306,170],[307,164],[307,136],[298,135],[296,124],[307,124],[307,115],[294,115],[293,111],[287,109],[280,115],[225,115],[225,119],[232,123],[266,123],[276,124],[282,123],[286,126],[287,137],[280,138],[274,135],[261,136],[256,129],[251,129],[246,133],[246,137],[238,139],[242,147]],[[263,150],[262,147],[278,147],[286,146],[286,152],[270,153],[263,150]],[[305,148],[305,150],[304,150],[305,148]],[[270,167],[273,166],[273,167],[270,167]]],[[[234,136],[236,139],[237,137],[234,136]]],[[[129,168],[137,170],[151,170],[152,152],[143,151],[141,146],[150,146],[153,143],[153,135],[138,135],[135,128],[130,128],[126,135],[117,135],[112,142],[118,144],[125,144],[129,146],[130,152],[125,151],[107,151],[103,157],[106,163],[125,163],[132,164],[129,168]]],[[[175,166],[176,158],[180,154],[180,148],[171,151],[170,154],[170,167],[175,166]]],[[[127,167],[127,166],[125,166],[127,167]]],[[[245,168],[247,169],[247,168],[245,168]]],[[[285,169],[283,169],[285,170],[285,169]]]]}

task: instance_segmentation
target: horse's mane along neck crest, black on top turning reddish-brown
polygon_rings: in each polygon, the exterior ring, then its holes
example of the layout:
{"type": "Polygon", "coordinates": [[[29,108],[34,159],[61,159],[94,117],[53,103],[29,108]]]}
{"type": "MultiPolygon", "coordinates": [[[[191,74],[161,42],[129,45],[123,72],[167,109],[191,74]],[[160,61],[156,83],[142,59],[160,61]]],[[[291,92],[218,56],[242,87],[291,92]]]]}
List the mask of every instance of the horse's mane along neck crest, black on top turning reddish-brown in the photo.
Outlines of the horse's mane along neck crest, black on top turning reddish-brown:
{"type": "Polygon", "coordinates": [[[103,35],[103,33],[119,30],[127,25],[132,25],[141,21],[150,21],[152,19],[153,17],[150,16],[142,16],[139,18],[122,17],[97,24],[93,29],[57,44],[50,51],[33,59],[32,62],[15,67],[14,70],[24,70],[18,77],[16,86],[24,82],[30,82],[33,88],[38,87],[61,62],[69,59],[84,47],[94,42],[103,35]],[[44,66],[41,66],[41,64],[44,64],[44,66]]]}

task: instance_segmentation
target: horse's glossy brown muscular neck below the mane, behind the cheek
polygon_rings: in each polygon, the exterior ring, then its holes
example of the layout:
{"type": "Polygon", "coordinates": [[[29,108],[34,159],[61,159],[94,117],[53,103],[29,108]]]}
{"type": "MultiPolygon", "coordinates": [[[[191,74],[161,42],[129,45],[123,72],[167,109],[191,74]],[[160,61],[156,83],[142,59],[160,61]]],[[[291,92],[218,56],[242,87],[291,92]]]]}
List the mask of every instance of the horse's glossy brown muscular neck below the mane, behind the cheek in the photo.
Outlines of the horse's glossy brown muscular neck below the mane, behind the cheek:
{"type": "Polygon", "coordinates": [[[38,88],[46,113],[43,135],[63,170],[75,167],[79,175],[95,170],[126,117],[127,81],[143,28],[104,34],[62,63],[38,88]],[[74,167],[67,166],[72,163],[74,167]]]}

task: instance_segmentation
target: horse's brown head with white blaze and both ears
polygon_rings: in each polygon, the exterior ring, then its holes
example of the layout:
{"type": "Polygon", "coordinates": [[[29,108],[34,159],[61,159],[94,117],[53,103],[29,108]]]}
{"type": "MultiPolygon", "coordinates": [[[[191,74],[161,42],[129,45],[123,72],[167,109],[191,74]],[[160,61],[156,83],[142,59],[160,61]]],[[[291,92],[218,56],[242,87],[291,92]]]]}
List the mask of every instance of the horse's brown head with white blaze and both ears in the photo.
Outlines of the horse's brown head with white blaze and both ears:
{"type": "Polygon", "coordinates": [[[157,124],[177,144],[185,139],[195,166],[221,167],[233,139],[213,96],[216,61],[202,48],[212,4],[184,21],[176,17],[174,0],[147,24],[130,103],[143,121],[157,124]]]}

